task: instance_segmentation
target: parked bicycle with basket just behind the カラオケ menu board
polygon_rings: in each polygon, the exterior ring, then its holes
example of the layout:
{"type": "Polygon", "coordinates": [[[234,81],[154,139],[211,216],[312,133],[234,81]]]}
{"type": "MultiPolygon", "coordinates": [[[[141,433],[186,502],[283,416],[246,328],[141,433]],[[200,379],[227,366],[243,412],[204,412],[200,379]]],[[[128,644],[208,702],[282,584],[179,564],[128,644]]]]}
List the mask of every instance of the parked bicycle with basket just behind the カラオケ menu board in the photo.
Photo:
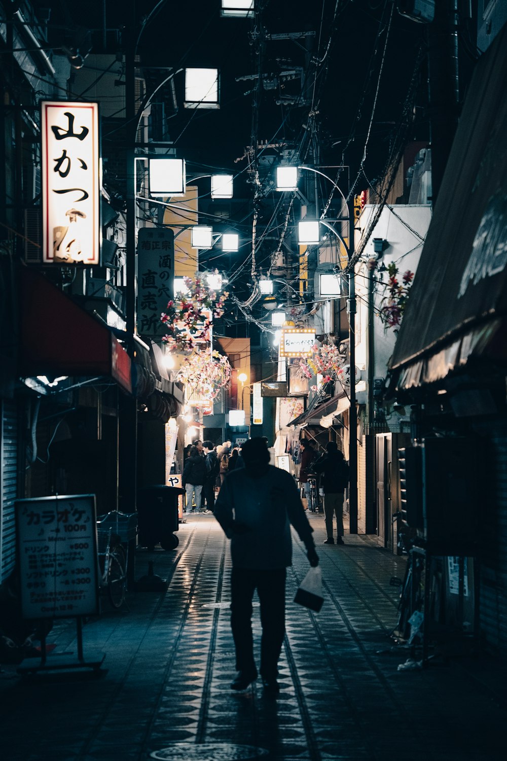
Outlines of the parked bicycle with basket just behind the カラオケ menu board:
{"type": "MultiPolygon", "coordinates": [[[[135,520],[135,517],[134,517],[135,520]]],[[[106,591],[113,608],[125,600],[127,588],[127,555],[122,534],[128,533],[132,516],[112,510],[97,518],[97,554],[100,568],[100,589],[106,591]],[[116,527],[116,530],[113,530],[116,527]]]]}

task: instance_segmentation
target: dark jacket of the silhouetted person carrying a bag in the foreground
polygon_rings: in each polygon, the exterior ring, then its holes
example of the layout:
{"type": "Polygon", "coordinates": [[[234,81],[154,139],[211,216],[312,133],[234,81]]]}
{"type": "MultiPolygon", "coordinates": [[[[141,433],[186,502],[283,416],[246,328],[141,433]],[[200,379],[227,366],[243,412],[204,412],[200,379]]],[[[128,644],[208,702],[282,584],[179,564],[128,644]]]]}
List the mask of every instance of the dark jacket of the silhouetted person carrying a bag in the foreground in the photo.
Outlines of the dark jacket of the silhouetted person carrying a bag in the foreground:
{"type": "Polygon", "coordinates": [[[234,568],[268,571],[290,565],[290,524],[306,549],[314,547],[293,477],[272,465],[257,475],[248,468],[230,473],[215,503],[215,517],[231,540],[234,568]]]}

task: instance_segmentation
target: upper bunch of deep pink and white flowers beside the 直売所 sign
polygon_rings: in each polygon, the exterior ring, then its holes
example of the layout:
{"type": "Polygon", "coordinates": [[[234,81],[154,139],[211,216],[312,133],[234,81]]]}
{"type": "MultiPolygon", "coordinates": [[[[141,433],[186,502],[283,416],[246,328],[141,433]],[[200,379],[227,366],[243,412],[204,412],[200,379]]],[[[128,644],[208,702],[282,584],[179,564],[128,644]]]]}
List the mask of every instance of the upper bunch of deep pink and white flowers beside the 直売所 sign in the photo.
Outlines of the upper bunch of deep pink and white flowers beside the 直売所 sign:
{"type": "Polygon", "coordinates": [[[208,342],[212,317],[218,319],[223,315],[223,305],[229,294],[210,288],[208,274],[218,275],[218,270],[197,273],[195,278],[184,278],[189,293],[171,299],[160,317],[167,330],[163,340],[170,351],[192,352],[195,345],[208,342]]]}

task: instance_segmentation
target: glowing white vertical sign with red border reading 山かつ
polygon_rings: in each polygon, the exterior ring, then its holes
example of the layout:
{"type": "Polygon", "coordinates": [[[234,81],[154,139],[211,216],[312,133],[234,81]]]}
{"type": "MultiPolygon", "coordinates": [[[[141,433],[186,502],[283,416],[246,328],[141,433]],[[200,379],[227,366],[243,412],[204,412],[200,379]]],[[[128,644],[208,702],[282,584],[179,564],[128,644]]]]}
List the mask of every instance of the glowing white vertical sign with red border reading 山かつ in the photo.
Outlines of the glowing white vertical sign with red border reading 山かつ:
{"type": "Polygon", "coordinates": [[[41,103],[43,264],[100,264],[97,103],[41,103]]]}

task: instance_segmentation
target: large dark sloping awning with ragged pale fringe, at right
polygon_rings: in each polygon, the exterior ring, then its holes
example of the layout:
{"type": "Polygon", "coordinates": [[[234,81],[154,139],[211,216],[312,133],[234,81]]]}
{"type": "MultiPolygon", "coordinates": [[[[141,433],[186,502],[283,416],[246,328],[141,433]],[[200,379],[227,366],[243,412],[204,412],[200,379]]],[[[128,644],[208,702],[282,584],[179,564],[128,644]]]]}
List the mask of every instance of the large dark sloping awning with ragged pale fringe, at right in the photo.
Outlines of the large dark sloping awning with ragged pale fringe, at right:
{"type": "Polygon", "coordinates": [[[464,103],[391,358],[400,390],[472,358],[507,361],[505,92],[507,27],[477,63],[464,103]]]}

